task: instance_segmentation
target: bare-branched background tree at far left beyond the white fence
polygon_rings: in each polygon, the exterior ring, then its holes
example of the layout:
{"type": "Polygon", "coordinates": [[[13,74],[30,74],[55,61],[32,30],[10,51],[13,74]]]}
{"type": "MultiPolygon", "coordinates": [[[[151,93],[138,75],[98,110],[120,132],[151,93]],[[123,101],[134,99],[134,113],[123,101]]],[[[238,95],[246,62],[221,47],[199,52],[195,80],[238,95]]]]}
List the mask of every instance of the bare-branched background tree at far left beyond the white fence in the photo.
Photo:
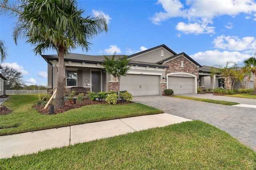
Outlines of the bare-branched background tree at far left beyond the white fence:
{"type": "Polygon", "coordinates": [[[24,81],[22,80],[22,73],[14,68],[7,66],[3,67],[2,74],[7,78],[5,84],[5,88],[7,90],[20,90],[25,85],[24,81]]]}

